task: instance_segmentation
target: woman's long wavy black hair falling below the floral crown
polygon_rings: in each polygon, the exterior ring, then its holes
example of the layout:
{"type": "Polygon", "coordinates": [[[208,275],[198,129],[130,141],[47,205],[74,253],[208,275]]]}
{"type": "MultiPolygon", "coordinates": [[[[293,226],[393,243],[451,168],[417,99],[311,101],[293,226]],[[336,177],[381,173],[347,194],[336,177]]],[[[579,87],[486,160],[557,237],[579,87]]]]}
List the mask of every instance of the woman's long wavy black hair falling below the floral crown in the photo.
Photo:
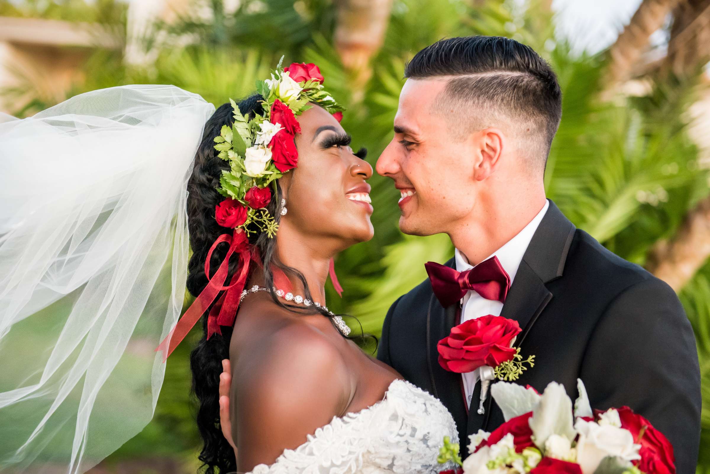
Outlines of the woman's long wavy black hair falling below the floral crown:
{"type": "MultiPolygon", "coordinates": [[[[239,101],[239,111],[241,114],[253,118],[255,112],[263,112],[261,106],[261,95],[253,94],[246,99],[239,101]]],[[[219,106],[212,117],[204,126],[202,143],[197,149],[195,157],[195,169],[187,183],[189,196],[187,197],[187,217],[190,229],[190,246],[192,247],[192,257],[187,266],[187,290],[197,297],[204,287],[207,286],[207,275],[204,275],[204,260],[212,243],[223,233],[231,233],[231,229],[224,228],[217,224],[214,219],[214,207],[217,206],[224,197],[217,192],[219,187],[219,176],[222,170],[229,170],[229,163],[217,156],[214,150],[215,136],[224,125],[231,126],[233,123],[232,110],[230,104],[219,106]]],[[[295,172],[293,170],[292,172],[295,172]]],[[[269,213],[278,222],[281,211],[281,189],[277,182],[277,192],[274,193],[271,202],[266,206],[269,213]]],[[[269,288],[271,299],[275,304],[294,312],[314,313],[320,312],[324,316],[329,314],[321,308],[312,306],[310,308],[296,307],[292,304],[284,304],[278,299],[275,292],[271,290],[273,285],[273,269],[280,268],[286,275],[296,277],[305,289],[303,295],[307,299],[313,299],[306,283],[305,277],[295,268],[290,268],[278,259],[276,255],[275,238],[269,238],[266,233],[252,234],[249,242],[256,246],[263,261],[264,285],[269,288]]],[[[224,243],[215,248],[210,261],[210,269],[216,271],[219,263],[224,260],[228,246],[224,243]]],[[[229,275],[226,281],[231,279],[231,275],[237,271],[239,261],[231,258],[229,262],[229,275]]],[[[205,312],[207,314],[209,308],[205,312]]],[[[332,320],[332,319],[331,319],[332,320]]],[[[201,468],[205,468],[205,474],[215,474],[214,468],[218,468],[219,473],[230,473],[236,471],[234,450],[222,436],[219,427],[219,374],[222,373],[222,359],[229,358],[229,341],[231,340],[232,328],[222,326],[222,335],[214,334],[207,341],[207,317],[202,317],[202,338],[190,354],[190,369],[192,370],[192,393],[197,398],[197,428],[204,441],[204,446],[198,457],[202,461],[201,468]]],[[[351,336],[351,338],[361,338],[351,336]]]]}

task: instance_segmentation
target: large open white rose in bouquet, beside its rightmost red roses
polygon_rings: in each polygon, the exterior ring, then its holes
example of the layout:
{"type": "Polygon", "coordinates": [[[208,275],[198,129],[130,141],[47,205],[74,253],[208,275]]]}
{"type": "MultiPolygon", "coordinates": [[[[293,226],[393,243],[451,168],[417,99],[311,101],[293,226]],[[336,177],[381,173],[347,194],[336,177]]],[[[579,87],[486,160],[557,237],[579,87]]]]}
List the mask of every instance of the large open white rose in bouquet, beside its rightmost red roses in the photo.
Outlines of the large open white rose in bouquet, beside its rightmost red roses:
{"type": "Polygon", "coordinates": [[[640,459],[640,444],[633,443],[631,433],[623,428],[606,424],[599,426],[594,421],[577,419],[574,429],[579,433],[577,463],[583,474],[594,474],[606,456],[616,456],[623,461],[640,459]]]}

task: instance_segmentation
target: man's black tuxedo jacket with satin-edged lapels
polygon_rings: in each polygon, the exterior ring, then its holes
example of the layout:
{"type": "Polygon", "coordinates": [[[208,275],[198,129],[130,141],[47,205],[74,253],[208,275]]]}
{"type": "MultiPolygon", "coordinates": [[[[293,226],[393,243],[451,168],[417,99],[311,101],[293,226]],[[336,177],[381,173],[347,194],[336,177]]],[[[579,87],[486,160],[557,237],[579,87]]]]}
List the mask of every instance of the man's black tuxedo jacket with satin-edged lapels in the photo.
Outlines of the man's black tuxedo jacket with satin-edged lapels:
{"type": "MultiPolygon", "coordinates": [[[[455,268],[454,260],[446,265],[455,268]]],[[[476,410],[481,384],[466,412],[461,374],[438,363],[437,342],[455,324],[459,303],[444,308],[425,280],[400,297],[383,325],[378,359],[440,399],[468,435],[493,431],[503,414],[490,395],[476,410]]],[[[628,405],[674,446],[678,474],[692,474],[700,439],[700,374],[695,338],[675,292],[638,265],[603,248],[550,202],[535,231],[501,316],[523,331],[515,346],[535,367],[517,380],[537,390],[550,382],[577,398],[577,378],[591,407],[628,405]]]]}

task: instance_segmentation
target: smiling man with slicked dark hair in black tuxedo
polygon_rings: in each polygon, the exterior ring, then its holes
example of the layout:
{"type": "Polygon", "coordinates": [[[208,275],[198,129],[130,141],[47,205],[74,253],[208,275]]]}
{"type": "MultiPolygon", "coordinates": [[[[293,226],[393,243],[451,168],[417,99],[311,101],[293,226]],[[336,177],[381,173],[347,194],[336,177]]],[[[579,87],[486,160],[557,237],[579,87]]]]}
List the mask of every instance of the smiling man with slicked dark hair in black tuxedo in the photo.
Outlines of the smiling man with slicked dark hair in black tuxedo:
{"type": "Polygon", "coordinates": [[[465,456],[468,436],[493,431],[503,414],[490,396],[478,413],[478,371],[444,369],[437,342],[479,316],[514,319],[515,346],[535,355],[520,385],[559,382],[574,399],[581,378],[591,407],[628,405],[671,441],[677,472],[694,473],[699,367],[676,294],[545,199],[562,114],[550,66],[514,40],[472,36],[421,50],[405,77],[395,136],[376,169],[402,193],[400,229],[447,233],[456,250],[392,305],[378,358],[446,405],[465,456]]]}

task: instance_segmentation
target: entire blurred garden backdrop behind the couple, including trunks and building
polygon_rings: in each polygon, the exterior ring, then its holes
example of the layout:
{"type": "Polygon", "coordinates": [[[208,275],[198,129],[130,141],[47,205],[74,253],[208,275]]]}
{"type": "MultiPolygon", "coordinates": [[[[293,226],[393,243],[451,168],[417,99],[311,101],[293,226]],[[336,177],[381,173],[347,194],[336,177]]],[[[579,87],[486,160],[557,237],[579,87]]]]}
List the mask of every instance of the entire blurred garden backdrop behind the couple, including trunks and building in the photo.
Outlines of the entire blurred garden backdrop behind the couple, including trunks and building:
{"type": "MultiPolygon", "coordinates": [[[[611,45],[590,53],[559,34],[551,0],[0,0],[0,109],[29,116],[132,83],[175,84],[219,106],[249,94],[285,55],[320,66],[348,106],[354,148],[366,146],[374,165],[418,50],[474,34],[532,46],[564,93],[547,195],[679,293],[703,380],[698,473],[710,473],[710,1],[632,3],[611,45]]],[[[371,184],[375,237],[339,255],[346,292],[329,287],[328,304],[379,334],[389,305],[425,278],[422,263],[453,249],[447,236],[400,233],[398,192],[377,175],[371,184]]],[[[170,357],[153,421],[91,472],[195,472],[189,352],[183,343],[170,357]]]]}

